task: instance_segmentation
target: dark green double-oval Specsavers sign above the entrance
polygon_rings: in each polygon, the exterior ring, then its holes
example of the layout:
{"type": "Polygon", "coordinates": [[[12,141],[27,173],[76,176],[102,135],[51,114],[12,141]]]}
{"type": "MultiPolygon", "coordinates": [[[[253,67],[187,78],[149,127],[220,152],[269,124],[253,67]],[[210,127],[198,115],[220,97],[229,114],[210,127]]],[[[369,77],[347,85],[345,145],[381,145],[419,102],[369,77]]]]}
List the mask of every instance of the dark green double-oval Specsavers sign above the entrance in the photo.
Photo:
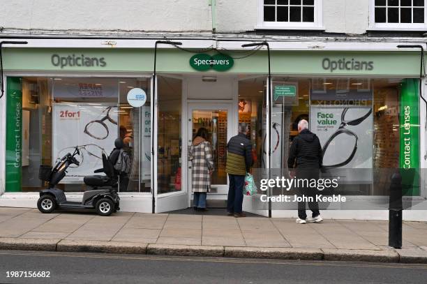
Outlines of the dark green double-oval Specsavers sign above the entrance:
{"type": "Polygon", "coordinates": [[[213,56],[206,53],[199,53],[190,58],[190,66],[198,71],[210,69],[216,71],[230,70],[234,65],[234,59],[227,54],[215,54],[213,56]]]}

